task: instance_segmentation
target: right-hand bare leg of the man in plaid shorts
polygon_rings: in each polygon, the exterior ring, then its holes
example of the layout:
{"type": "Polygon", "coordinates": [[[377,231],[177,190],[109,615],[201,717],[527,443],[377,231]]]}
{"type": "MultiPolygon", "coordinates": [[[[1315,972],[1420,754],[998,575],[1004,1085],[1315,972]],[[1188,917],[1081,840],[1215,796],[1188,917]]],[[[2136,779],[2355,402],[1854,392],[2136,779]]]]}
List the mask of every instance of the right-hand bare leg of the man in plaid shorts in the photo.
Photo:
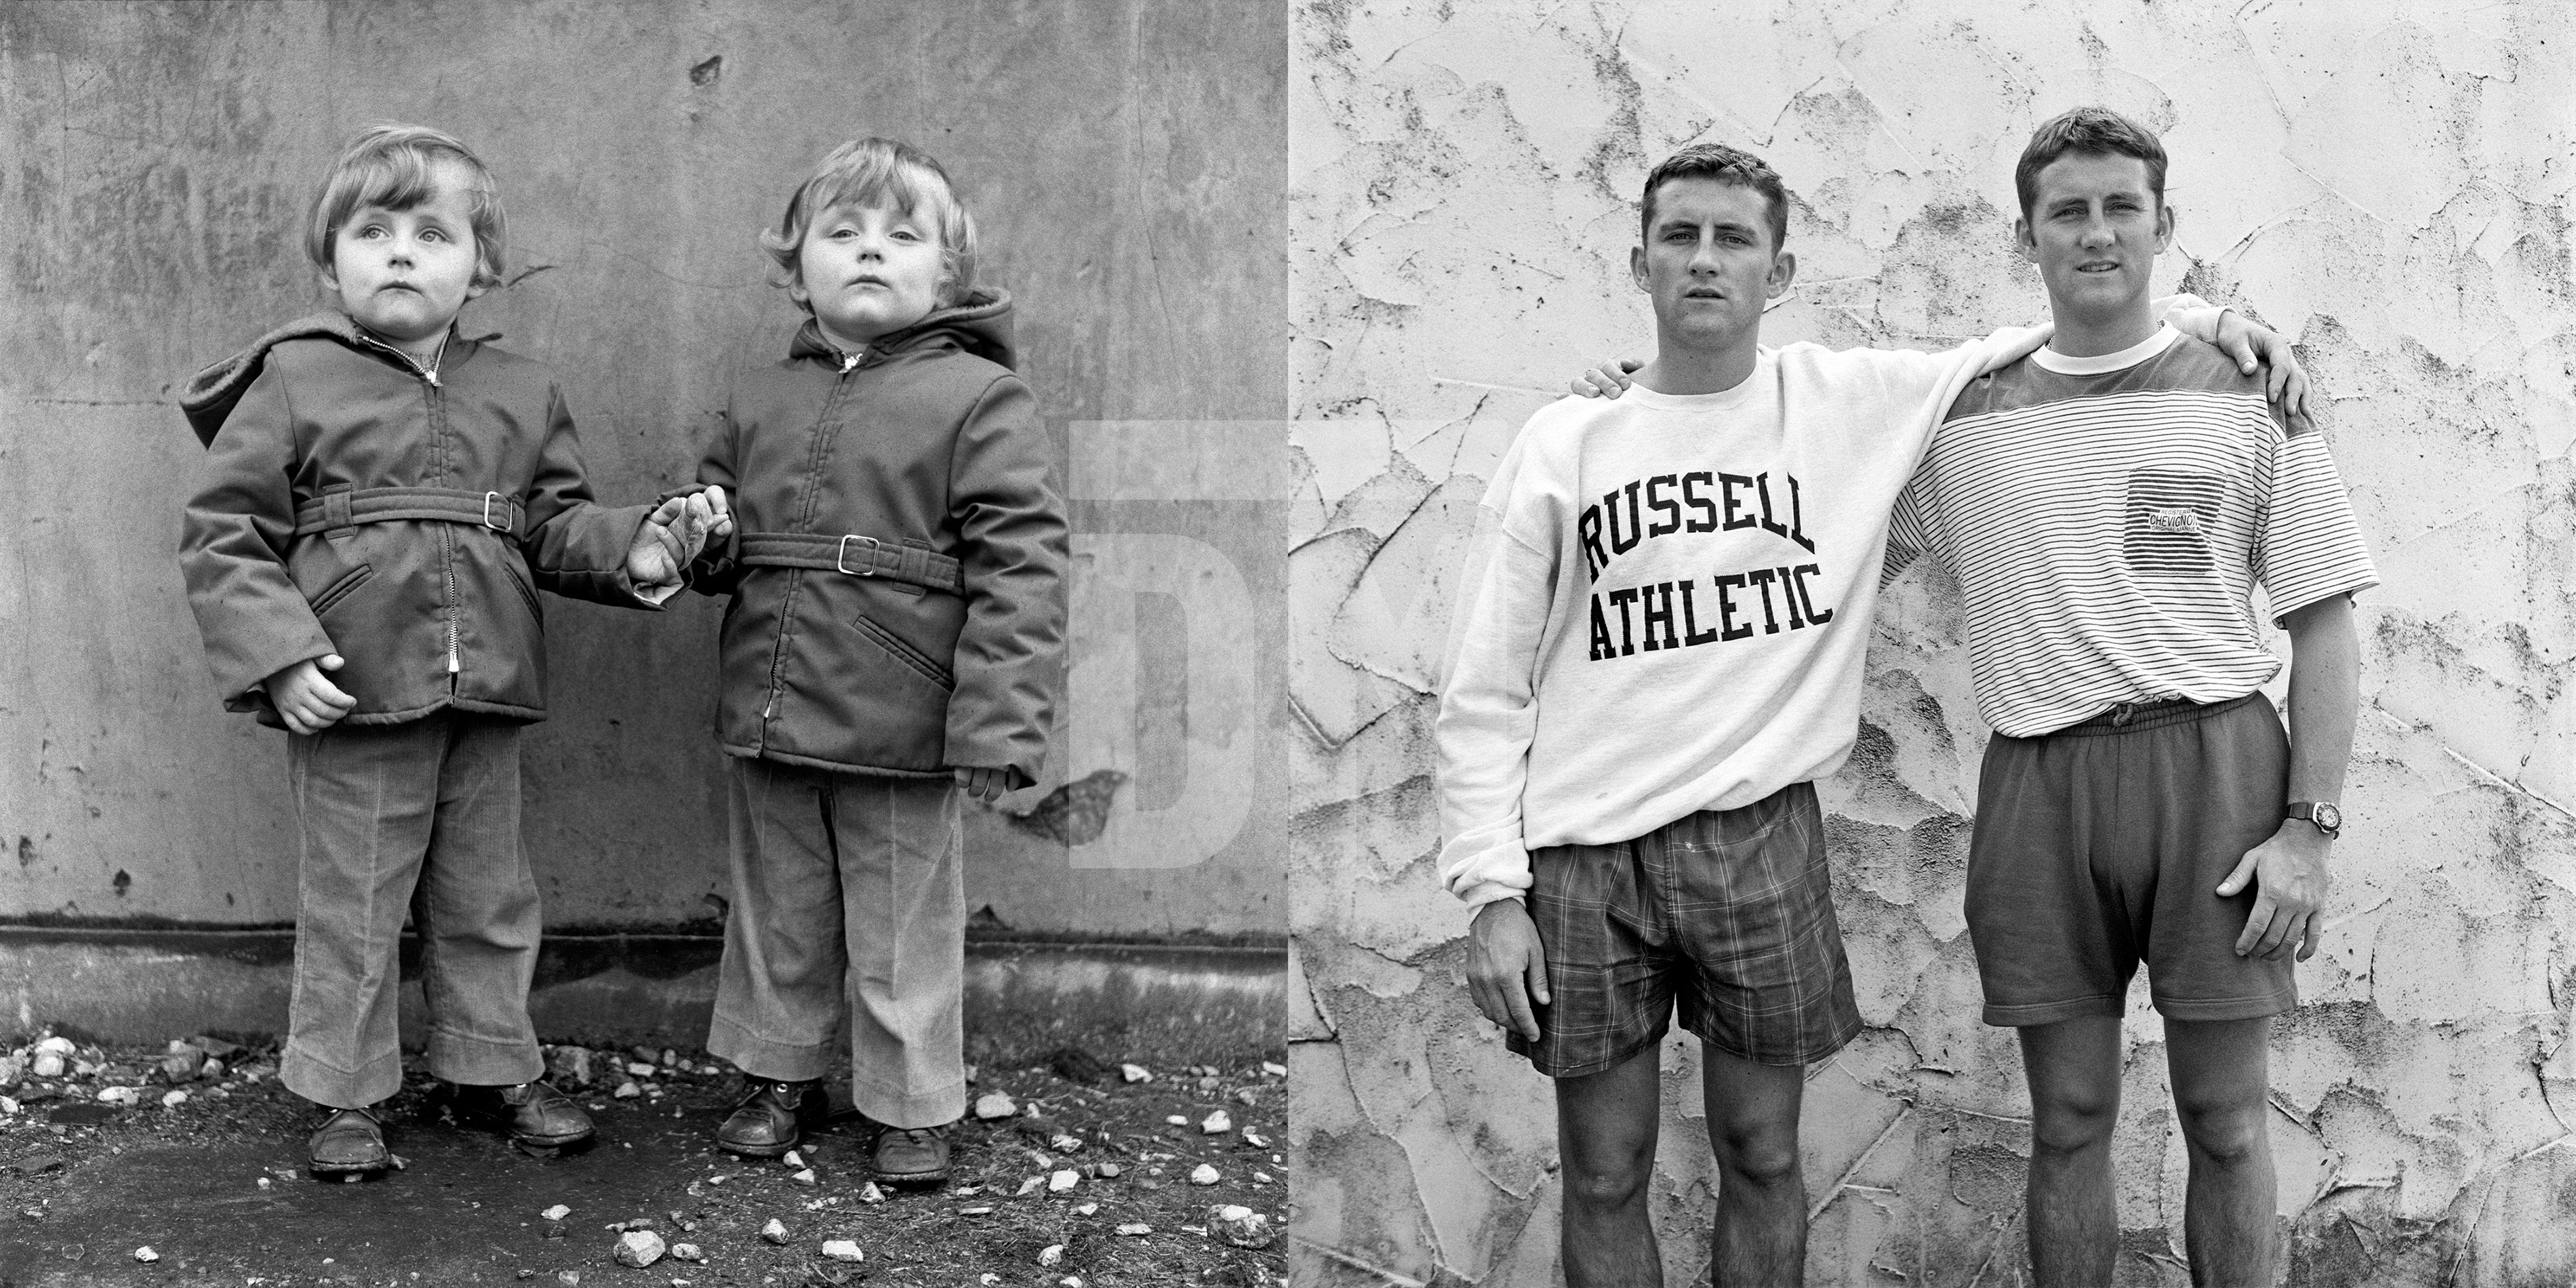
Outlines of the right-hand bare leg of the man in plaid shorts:
{"type": "Polygon", "coordinates": [[[1718,1154],[1718,1288],[1795,1288],[1806,1280],[1806,1175],[1798,1103],[1806,1069],[1754,1064],[1700,1043],[1708,1146],[1718,1154]]]}

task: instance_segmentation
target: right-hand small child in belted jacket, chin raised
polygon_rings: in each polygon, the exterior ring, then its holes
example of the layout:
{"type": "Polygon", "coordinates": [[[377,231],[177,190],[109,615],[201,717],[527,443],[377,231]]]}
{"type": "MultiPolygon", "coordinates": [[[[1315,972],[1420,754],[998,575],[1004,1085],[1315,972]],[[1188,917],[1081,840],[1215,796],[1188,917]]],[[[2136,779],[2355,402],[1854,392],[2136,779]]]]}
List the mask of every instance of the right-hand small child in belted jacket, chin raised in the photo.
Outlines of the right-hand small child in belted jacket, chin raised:
{"type": "Polygon", "coordinates": [[[693,582],[734,595],[734,902],[706,1046],[752,1077],[716,1141],[775,1157],[824,1121],[848,994],[871,1164],[925,1185],[966,1108],[956,788],[1038,778],[1064,502],[1010,296],[976,286],[974,219],[935,160],[842,144],[760,242],[809,317],[786,361],[734,379],[698,464],[737,523],[693,582]]]}

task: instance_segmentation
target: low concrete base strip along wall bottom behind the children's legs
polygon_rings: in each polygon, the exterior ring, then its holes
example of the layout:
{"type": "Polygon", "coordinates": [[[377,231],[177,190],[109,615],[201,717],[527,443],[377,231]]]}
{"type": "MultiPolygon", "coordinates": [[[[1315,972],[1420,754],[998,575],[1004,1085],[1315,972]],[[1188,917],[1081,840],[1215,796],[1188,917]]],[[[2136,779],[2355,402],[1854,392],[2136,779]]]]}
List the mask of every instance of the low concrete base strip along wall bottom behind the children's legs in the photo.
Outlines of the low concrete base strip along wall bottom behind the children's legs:
{"type": "MultiPolygon", "coordinates": [[[[706,935],[549,935],[528,1012],[546,1041],[696,1048],[719,951],[706,935]]],[[[422,997],[410,938],[402,966],[402,1036],[415,1046],[422,997]]],[[[0,1033],[54,1025],[108,1043],[283,1033],[291,971],[291,930],[0,927],[0,1033]]],[[[966,945],[976,1061],[1059,1046],[1113,1064],[1280,1059],[1285,1002],[1288,951],[1273,945],[966,945]]]]}

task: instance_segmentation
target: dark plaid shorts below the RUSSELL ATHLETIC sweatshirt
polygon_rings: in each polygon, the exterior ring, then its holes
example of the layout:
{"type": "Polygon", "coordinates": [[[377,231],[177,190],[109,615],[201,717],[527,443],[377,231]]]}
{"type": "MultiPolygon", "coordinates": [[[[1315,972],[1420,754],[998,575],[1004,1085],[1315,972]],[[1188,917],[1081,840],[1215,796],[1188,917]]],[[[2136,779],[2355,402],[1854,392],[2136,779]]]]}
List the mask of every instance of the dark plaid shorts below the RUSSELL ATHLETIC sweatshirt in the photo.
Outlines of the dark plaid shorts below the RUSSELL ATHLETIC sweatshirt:
{"type": "Polygon", "coordinates": [[[1754,1064],[1808,1064],[1860,1033],[1814,783],[1687,814],[1613,845],[1530,853],[1548,951],[1540,1038],[1512,1051],[1584,1077],[1682,1028],[1754,1064]]]}

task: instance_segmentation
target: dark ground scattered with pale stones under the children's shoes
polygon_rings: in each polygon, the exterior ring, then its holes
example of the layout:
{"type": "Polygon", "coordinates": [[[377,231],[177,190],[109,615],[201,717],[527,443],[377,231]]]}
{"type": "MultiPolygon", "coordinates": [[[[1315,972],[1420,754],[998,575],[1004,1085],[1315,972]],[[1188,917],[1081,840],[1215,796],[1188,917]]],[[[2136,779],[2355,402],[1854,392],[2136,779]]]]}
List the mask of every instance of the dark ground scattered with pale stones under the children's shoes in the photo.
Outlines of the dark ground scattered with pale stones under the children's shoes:
{"type": "Polygon", "coordinates": [[[453,1126],[415,1069],[389,1103],[407,1167],[345,1185],[304,1172],[317,1113],[276,1084],[273,1051],[204,1046],[224,1056],[211,1077],[185,1074],[193,1054],[165,1069],[170,1054],[149,1048],[75,1043],[64,1077],[26,1072],[33,1046],[0,1059],[0,1288],[1285,1283],[1278,1064],[1131,1082],[1061,1048],[987,1066],[974,1095],[1007,1095],[1010,1113],[969,1115],[933,1190],[873,1188],[855,1118],[811,1136],[801,1170],[716,1151],[742,1077],[698,1051],[595,1051],[590,1082],[559,1074],[600,1128],[559,1157],[453,1126]],[[134,1105],[100,1100],[108,1087],[131,1087],[134,1105]],[[783,1239],[762,1236],[770,1221],[783,1239]],[[629,1231],[667,1249],[618,1265],[629,1231]],[[157,1260],[137,1260],[144,1247],[157,1260]]]}

